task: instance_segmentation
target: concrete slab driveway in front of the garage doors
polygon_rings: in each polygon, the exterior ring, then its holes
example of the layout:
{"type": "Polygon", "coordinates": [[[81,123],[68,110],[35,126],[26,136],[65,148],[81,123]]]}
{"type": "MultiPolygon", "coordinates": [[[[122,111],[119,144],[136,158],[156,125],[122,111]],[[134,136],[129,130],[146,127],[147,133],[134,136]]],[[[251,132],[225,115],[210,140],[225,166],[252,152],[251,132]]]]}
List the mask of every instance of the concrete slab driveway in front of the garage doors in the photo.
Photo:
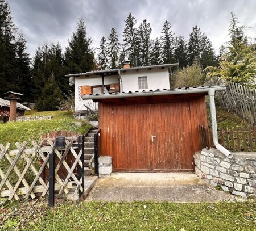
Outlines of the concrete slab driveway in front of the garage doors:
{"type": "Polygon", "coordinates": [[[235,200],[235,197],[190,173],[113,173],[98,179],[85,200],[200,203],[235,200]]]}

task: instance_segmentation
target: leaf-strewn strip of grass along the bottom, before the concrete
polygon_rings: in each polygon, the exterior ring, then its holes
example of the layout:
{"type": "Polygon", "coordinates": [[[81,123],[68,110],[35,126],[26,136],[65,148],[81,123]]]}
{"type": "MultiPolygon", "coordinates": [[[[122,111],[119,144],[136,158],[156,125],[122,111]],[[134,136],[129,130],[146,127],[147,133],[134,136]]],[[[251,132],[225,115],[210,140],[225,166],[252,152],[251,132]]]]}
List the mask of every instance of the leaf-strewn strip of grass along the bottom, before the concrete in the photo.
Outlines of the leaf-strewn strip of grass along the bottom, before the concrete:
{"type": "Polygon", "coordinates": [[[1,230],[255,230],[256,203],[65,202],[0,205],[1,230]],[[24,212],[26,211],[26,212],[24,212]]]}

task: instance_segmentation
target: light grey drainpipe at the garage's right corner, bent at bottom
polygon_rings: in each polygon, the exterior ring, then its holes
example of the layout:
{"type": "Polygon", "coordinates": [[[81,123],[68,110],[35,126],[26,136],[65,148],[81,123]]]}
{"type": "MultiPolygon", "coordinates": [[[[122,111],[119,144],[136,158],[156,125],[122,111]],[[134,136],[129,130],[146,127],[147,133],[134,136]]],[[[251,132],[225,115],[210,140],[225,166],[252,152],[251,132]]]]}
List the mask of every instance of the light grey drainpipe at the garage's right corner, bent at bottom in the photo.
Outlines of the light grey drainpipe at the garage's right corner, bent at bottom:
{"type": "Polygon", "coordinates": [[[218,131],[217,131],[217,120],[216,120],[216,108],[215,108],[215,89],[212,88],[208,91],[208,95],[210,97],[210,117],[212,118],[212,137],[213,144],[215,147],[223,153],[226,157],[232,158],[233,154],[229,152],[229,150],[225,149],[224,146],[221,146],[218,143],[218,131]]]}

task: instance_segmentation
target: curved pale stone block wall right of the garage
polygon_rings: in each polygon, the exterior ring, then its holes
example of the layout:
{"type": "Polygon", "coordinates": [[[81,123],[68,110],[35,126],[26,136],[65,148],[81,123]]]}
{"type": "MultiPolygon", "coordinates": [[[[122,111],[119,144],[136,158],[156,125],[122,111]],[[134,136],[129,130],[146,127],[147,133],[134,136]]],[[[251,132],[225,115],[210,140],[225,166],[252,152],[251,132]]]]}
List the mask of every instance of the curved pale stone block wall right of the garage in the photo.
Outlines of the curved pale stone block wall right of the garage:
{"type": "Polygon", "coordinates": [[[224,191],[247,198],[256,196],[256,153],[224,156],[217,149],[203,149],[194,156],[196,175],[224,191]]]}

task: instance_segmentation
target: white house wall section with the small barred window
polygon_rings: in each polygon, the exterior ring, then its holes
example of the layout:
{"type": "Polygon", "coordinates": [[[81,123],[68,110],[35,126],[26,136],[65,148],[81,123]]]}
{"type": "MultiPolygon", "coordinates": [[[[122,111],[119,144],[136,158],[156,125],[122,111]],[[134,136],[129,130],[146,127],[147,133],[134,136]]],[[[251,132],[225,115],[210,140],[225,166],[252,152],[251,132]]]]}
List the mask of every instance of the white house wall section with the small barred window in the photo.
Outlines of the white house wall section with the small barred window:
{"type": "Polygon", "coordinates": [[[142,90],[156,90],[169,89],[169,72],[168,68],[151,69],[151,70],[134,70],[121,72],[122,91],[142,91],[142,90]],[[147,76],[147,89],[139,89],[138,77],[147,76]]]}

